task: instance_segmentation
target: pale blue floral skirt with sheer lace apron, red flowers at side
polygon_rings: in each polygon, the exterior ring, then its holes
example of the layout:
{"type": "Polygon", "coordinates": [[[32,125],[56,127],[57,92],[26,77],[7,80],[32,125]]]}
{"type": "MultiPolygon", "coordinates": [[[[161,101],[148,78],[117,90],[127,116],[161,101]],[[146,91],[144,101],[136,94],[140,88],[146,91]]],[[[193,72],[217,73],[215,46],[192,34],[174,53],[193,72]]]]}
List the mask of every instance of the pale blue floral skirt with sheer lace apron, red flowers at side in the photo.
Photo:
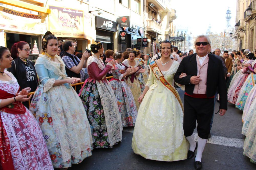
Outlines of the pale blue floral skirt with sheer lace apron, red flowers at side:
{"type": "Polygon", "coordinates": [[[92,155],[92,138],[86,112],[70,86],[38,87],[30,104],[46,141],[54,168],[68,168],[92,155]]]}

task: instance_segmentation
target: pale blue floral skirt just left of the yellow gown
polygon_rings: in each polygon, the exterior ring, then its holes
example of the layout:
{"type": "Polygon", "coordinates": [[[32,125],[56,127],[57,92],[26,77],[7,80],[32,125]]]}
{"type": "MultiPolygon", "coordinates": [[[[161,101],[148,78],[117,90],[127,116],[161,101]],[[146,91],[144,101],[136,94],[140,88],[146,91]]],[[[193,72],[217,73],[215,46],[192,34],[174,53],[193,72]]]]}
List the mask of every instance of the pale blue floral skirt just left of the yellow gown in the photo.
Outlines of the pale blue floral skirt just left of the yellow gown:
{"type": "Polygon", "coordinates": [[[130,87],[125,81],[112,80],[109,83],[117,99],[122,126],[134,126],[137,117],[137,108],[130,87]]]}

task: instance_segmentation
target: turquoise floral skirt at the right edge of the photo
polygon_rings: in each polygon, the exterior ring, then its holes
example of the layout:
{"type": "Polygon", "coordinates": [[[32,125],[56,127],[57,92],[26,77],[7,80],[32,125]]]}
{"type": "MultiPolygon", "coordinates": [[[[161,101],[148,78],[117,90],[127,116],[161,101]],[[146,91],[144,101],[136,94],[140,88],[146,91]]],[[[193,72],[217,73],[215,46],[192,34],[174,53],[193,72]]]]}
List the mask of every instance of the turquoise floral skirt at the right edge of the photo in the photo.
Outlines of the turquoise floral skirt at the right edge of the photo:
{"type": "Polygon", "coordinates": [[[236,108],[238,108],[239,110],[243,110],[244,109],[244,105],[246,103],[246,99],[251,91],[251,89],[253,88],[253,85],[255,85],[256,83],[256,74],[251,73],[245,83],[243,84],[240,93],[238,95],[237,98],[237,102],[236,102],[236,108]]]}

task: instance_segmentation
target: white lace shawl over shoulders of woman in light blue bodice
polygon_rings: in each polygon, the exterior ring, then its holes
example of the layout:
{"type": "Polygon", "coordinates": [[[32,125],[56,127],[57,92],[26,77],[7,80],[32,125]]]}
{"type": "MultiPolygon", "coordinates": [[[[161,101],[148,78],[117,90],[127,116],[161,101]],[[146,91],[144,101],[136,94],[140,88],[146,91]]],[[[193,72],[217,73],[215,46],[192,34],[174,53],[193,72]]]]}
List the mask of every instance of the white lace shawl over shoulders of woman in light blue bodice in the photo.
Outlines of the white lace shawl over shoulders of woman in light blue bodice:
{"type": "Polygon", "coordinates": [[[57,80],[60,79],[67,79],[67,75],[66,75],[66,69],[65,69],[65,64],[62,61],[62,59],[60,58],[60,56],[55,56],[55,58],[57,58],[57,60],[60,63],[51,61],[51,58],[47,57],[46,55],[42,55],[39,54],[39,57],[36,60],[35,66],[36,64],[44,64],[45,68],[48,70],[52,70],[56,75],[59,76],[59,78],[57,80]],[[60,65],[62,64],[63,68],[62,70],[60,70],[60,65]]]}

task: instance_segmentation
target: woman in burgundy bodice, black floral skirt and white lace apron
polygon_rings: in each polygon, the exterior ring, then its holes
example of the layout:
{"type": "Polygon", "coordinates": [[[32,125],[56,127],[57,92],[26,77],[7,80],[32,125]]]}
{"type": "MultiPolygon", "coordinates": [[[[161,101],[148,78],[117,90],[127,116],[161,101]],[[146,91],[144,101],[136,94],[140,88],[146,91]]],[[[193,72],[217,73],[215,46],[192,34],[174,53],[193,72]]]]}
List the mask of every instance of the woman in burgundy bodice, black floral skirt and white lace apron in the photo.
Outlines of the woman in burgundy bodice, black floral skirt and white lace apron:
{"type": "Polygon", "coordinates": [[[106,80],[106,73],[117,61],[110,61],[105,67],[100,59],[103,50],[100,41],[92,41],[94,54],[87,60],[89,78],[79,94],[91,125],[93,148],[112,148],[122,140],[121,116],[115,94],[106,80]]]}

